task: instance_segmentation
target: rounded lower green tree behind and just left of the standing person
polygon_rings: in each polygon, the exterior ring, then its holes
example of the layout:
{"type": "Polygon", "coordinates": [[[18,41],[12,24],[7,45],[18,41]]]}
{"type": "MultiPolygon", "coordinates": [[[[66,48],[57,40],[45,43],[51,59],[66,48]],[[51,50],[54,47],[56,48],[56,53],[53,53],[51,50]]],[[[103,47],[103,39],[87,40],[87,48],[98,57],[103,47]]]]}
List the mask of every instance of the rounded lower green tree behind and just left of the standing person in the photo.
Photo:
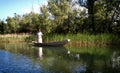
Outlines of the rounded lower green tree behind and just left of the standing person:
{"type": "Polygon", "coordinates": [[[22,16],[20,21],[20,32],[33,33],[36,31],[37,25],[39,25],[39,14],[31,12],[22,16]]]}

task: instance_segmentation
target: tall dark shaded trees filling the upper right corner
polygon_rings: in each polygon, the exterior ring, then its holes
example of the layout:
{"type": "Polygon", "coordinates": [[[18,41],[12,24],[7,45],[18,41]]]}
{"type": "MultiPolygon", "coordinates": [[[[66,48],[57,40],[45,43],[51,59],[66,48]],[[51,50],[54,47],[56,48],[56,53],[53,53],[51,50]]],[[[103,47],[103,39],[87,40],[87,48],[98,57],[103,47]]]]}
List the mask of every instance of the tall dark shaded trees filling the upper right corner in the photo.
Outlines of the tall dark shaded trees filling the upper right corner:
{"type": "Polygon", "coordinates": [[[119,23],[119,0],[79,0],[80,5],[88,8],[89,29],[92,32],[117,32],[119,23]],[[117,23],[115,25],[114,23],[117,23]]]}

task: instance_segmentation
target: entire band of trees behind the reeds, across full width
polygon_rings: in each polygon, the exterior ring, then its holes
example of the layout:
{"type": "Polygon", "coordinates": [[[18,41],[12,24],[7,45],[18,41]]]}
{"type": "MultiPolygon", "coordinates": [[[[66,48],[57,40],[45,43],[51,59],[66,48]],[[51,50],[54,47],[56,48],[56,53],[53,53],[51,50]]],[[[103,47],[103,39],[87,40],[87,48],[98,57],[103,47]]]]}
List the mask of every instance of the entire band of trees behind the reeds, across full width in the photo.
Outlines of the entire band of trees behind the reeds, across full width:
{"type": "Polygon", "coordinates": [[[0,20],[0,33],[120,33],[119,0],[49,0],[40,11],[0,20]]]}

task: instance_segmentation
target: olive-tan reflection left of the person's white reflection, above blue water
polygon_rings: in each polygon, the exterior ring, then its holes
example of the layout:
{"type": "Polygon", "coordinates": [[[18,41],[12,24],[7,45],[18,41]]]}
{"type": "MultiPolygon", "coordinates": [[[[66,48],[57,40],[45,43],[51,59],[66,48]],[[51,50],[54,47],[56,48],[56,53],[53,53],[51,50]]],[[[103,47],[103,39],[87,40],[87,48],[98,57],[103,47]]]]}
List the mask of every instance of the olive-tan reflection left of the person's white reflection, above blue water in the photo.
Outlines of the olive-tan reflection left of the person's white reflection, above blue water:
{"type": "MultiPolygon", "coordinates": [[[[0,46],[1,47],[1,46],[0,46]]],[[[28,57],[38,57],[38,48],[27,43],[4,43],[2,49],[15,54],[22,54],[28,57]]]]}

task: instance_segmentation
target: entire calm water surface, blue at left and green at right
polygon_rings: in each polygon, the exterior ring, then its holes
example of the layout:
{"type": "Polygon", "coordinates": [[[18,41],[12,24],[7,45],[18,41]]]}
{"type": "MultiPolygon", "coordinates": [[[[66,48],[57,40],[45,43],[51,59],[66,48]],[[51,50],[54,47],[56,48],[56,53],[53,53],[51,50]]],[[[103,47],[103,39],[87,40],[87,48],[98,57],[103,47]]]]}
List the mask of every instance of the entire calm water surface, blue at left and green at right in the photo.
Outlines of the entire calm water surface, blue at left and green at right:
{"type": "Polygon", "coordinates": [[[120,73],[120,47],[0,44],[0,73],[120,73]]]}

